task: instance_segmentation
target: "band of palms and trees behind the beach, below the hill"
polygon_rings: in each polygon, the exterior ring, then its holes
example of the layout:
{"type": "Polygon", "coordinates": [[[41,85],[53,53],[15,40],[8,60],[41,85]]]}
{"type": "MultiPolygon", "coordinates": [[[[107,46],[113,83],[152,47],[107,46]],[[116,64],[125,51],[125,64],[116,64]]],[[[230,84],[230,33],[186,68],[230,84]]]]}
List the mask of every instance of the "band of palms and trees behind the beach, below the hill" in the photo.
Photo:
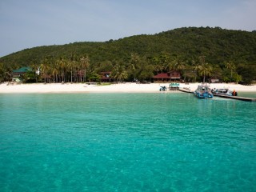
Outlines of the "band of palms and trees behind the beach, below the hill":
{"type": "MultiPolygon", "coordinates": [[[[130,54],[127,62],[114,60],[91,65],[89,56],[71,55],[70,58],[47,57],[39,63],[32,61],[29,66],[32,71],[22,77],[25,82],[100,82],[103,71],[110,71],[110,78],[115,82],[151,82],[155,74],[177,70],[184,82],[210,82],[214,78],[220,82],[250,84],[256,72],[255,67],[236,66],[233,61],[224,62],[223,67],[213,65],[205,56],[184,60],[177,55],[147,57],[136,53],[130,54]]],[[[2,82],[10,79],[11,71],[2,64],[0,73],[2,82]]]]}

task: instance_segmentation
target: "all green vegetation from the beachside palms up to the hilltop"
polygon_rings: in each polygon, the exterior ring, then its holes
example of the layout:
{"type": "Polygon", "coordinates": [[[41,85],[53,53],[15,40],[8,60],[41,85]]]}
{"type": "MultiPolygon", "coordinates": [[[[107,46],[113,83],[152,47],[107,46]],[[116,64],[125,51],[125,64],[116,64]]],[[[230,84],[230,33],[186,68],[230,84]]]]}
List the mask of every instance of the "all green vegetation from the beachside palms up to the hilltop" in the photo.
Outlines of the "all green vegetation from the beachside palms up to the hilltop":
{"type": "Polygon", "coordinates": [[[98,82],[102,71],[111,71],[115,81],[144,82],[178,70],[186,82],[218,78],[250,84],[256,80],[256,31],[184,27],[107,42],[38,46],[0,58],[0,81],[22,66],[33,70],[23,77],[26,82],[98,82]]]}

